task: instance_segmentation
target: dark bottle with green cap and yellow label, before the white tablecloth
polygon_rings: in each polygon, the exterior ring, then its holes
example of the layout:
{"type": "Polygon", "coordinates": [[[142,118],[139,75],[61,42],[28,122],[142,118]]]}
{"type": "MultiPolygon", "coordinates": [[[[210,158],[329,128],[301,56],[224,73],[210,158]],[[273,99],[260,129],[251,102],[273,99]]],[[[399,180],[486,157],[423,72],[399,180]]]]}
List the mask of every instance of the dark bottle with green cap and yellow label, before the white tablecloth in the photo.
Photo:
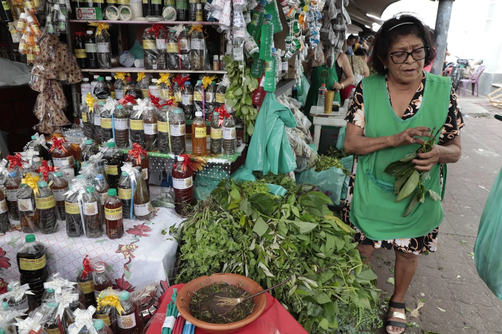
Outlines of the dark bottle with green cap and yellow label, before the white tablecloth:
{"type": "Polygon", "coordinates": [[[40,304],[44,293],[44,282],[49,278],[45,246],[35,241],[34,234],[25,237],[26,243],[17,249],[17,262],[21,285],[29,284],[30,290],[35,293],[35,300],[40,304]]]}

